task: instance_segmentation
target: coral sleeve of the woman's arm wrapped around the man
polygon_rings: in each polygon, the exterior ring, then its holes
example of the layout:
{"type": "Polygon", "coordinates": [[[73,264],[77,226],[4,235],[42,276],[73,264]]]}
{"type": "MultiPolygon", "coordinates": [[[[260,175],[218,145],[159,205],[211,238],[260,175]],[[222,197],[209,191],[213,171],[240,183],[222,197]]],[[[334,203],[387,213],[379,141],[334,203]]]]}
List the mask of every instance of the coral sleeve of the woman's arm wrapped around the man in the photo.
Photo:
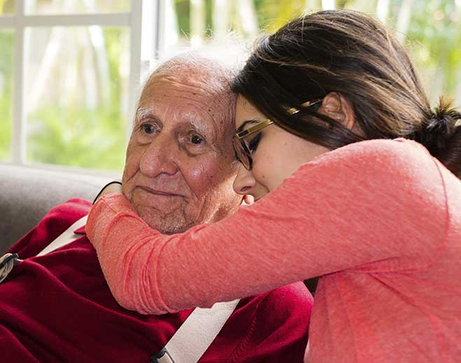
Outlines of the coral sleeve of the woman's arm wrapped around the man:
{"type": "Polygon", "coordinates": [[[321,155],[256,204],[183,234],[159,234],[125,197],[109,194],[92,209],[87,235],[115,299],[161,314],[347,269],[420,268],[437,255],[446,213],[427,150],[364,141],[321,155]]]}

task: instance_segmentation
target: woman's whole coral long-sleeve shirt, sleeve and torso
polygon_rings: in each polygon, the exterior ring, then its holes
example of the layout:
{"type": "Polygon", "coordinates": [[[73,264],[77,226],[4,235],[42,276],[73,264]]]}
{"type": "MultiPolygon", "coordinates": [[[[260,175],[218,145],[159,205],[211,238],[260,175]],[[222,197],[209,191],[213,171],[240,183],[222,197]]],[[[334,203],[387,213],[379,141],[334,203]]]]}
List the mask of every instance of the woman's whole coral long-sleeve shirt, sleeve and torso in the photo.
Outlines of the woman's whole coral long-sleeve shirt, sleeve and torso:
{"type": "Polygon", "coordinates": [[[321,276],[306,362],[458,362],[461,181],[413,141],[327,152],[213,225],[164,236],[121,195],[87,234],[115,298],[161,314],[321,276]]]}

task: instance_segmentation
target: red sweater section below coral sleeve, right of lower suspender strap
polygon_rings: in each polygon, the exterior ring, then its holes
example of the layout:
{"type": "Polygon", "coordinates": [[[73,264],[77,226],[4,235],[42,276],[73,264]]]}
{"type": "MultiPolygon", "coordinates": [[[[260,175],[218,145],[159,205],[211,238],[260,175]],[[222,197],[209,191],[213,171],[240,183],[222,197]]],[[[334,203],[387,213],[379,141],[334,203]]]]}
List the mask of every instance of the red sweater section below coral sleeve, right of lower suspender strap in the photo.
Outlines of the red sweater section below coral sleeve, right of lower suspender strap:
{"type": "Polygon", "coordinates": [[[201,362],[302,362],[312,305],[304,283],[241,299],[201,362]]]}

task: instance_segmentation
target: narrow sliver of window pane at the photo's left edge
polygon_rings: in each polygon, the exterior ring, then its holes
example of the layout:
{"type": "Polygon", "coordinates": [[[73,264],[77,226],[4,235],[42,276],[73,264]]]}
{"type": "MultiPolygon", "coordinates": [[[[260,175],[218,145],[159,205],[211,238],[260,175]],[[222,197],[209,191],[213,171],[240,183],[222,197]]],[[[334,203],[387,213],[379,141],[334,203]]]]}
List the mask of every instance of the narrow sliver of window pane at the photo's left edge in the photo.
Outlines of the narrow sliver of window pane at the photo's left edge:
{"type": "Polygon", "coordinates": [[[10,159],[13,124],[14,31],[0,29],[0,159],[10,159]]]}

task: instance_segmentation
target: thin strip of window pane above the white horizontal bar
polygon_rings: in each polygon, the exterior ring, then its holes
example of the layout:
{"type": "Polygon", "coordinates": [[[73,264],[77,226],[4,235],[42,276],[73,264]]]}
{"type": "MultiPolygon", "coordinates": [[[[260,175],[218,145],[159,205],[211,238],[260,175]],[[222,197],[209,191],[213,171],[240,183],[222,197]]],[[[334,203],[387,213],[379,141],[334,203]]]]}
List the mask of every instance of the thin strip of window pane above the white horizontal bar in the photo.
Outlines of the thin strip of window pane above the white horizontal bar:
{"type": "Polygon", "coordinates": [[[25,0],[28,15],[119,13],[130,8],[130,0],[25,0]]]}

